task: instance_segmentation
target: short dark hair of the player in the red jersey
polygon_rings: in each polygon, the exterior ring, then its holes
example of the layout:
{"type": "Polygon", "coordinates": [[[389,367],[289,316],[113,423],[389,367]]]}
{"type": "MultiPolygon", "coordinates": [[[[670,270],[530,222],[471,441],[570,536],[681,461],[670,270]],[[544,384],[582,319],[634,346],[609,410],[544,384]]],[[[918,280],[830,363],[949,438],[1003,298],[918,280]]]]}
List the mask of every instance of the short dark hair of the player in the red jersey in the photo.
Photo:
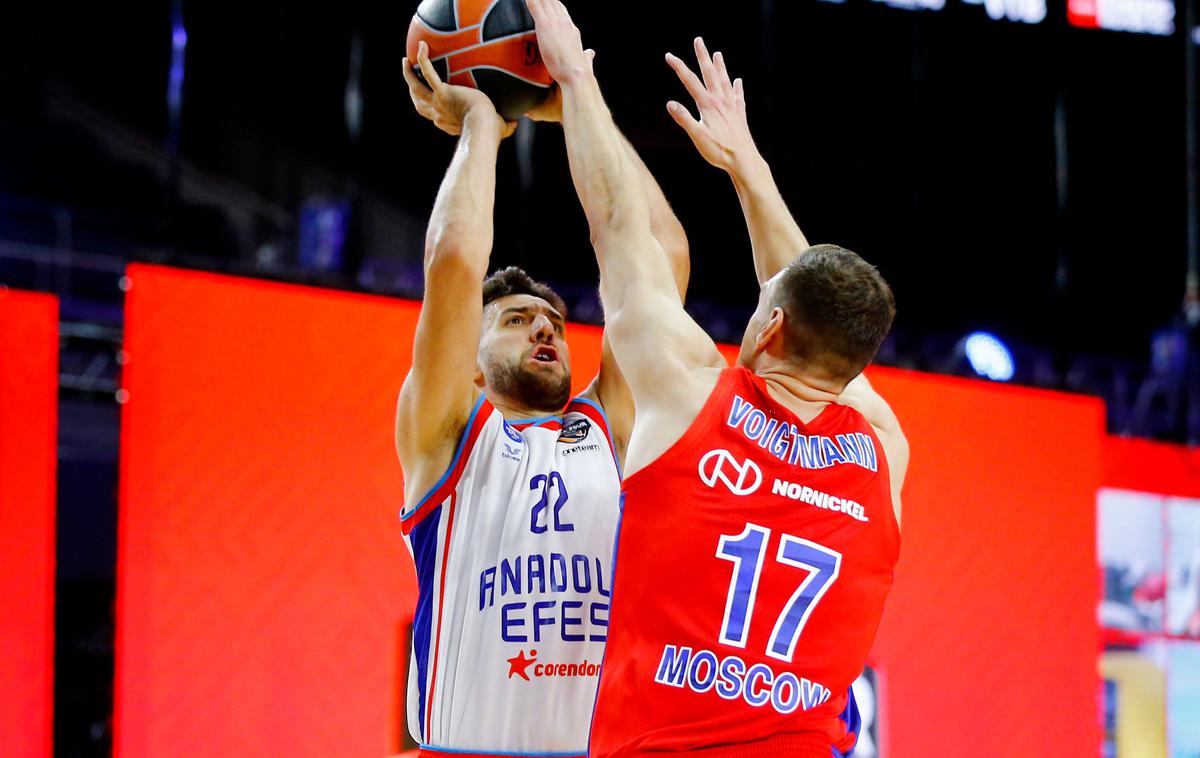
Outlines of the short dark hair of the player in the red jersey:
{"type": "Polygon", "coordinates": [[[816,245],[797,257],[776,284],[793,360],[850,381],[878,353],[896,314],[892,288],[851,251],[816,245]]]}

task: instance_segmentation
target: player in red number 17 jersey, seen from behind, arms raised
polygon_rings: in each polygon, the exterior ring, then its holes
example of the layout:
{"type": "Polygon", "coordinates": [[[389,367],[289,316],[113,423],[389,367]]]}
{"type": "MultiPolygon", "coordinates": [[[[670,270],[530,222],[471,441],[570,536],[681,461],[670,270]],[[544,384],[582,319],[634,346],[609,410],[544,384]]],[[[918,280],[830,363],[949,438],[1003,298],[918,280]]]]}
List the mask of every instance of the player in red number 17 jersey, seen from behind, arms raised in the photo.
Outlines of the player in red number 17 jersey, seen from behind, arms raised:
{"type": "Polygon", "coordinates": [[[589,754],[842,756],[899,552],[907,444],[862,377],[892,293],[858,255],[809,247],[742,83],[697,40],[703,82],[668,62],[701,119],[668,108],[733,179],[762,285],[726,367],[671,285],[578,30],[558,0],[528,4],[637,407],[589,754]]]}

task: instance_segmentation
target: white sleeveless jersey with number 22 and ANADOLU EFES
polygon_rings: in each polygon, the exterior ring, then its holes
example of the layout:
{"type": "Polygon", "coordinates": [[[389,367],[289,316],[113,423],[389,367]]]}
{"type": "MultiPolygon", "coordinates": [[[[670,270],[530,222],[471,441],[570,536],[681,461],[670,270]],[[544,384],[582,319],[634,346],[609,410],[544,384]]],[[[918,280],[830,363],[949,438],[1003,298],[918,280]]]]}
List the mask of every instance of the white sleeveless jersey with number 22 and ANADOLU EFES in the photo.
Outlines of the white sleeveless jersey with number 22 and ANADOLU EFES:
{"type": "Polygon", "coordinates": [[[409,732],[438,756],[583,756],[608,626],[620,474],[607,419],[509,422],[480,397],[401,517],[419,586],[409,732]]]}

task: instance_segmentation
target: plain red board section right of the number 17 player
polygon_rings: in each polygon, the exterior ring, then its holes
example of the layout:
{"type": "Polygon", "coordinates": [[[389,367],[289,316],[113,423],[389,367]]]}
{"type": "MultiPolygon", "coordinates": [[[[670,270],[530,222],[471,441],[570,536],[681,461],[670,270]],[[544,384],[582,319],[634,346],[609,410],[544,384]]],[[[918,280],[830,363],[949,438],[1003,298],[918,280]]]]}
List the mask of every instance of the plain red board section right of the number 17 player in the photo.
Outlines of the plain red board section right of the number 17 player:
{"type": "Polygon", "coordinates": [[[872,369],[912,445],[884,756],[1094,756],[1093,398],[872,369]]]}

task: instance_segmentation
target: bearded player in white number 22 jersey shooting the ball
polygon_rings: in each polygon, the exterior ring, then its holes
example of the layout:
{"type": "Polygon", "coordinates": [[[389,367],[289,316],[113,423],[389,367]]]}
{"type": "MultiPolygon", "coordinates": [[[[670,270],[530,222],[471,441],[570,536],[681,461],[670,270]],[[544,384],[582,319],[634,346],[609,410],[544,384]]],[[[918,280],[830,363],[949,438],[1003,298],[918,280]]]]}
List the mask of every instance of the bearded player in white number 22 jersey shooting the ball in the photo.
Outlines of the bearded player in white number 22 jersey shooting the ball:
{"type": "MultiPolygon", "coordinates": [[[[396,413],[401,515],[420,595],[409,730],[428,756],[583,756],[607,632],[619,465],[634,407],[605,341],[569,399],[566,308],[492,248],[496,157],[511,133],[485,95],[403,71],[418,112],[460,134],[433,207],[413,368],[396,413]]],[[[556,100],[533,114],[559,120],[556,100]]],[[[656,239],[688,276],[683,229],[642,173],[656,239]]]]}

